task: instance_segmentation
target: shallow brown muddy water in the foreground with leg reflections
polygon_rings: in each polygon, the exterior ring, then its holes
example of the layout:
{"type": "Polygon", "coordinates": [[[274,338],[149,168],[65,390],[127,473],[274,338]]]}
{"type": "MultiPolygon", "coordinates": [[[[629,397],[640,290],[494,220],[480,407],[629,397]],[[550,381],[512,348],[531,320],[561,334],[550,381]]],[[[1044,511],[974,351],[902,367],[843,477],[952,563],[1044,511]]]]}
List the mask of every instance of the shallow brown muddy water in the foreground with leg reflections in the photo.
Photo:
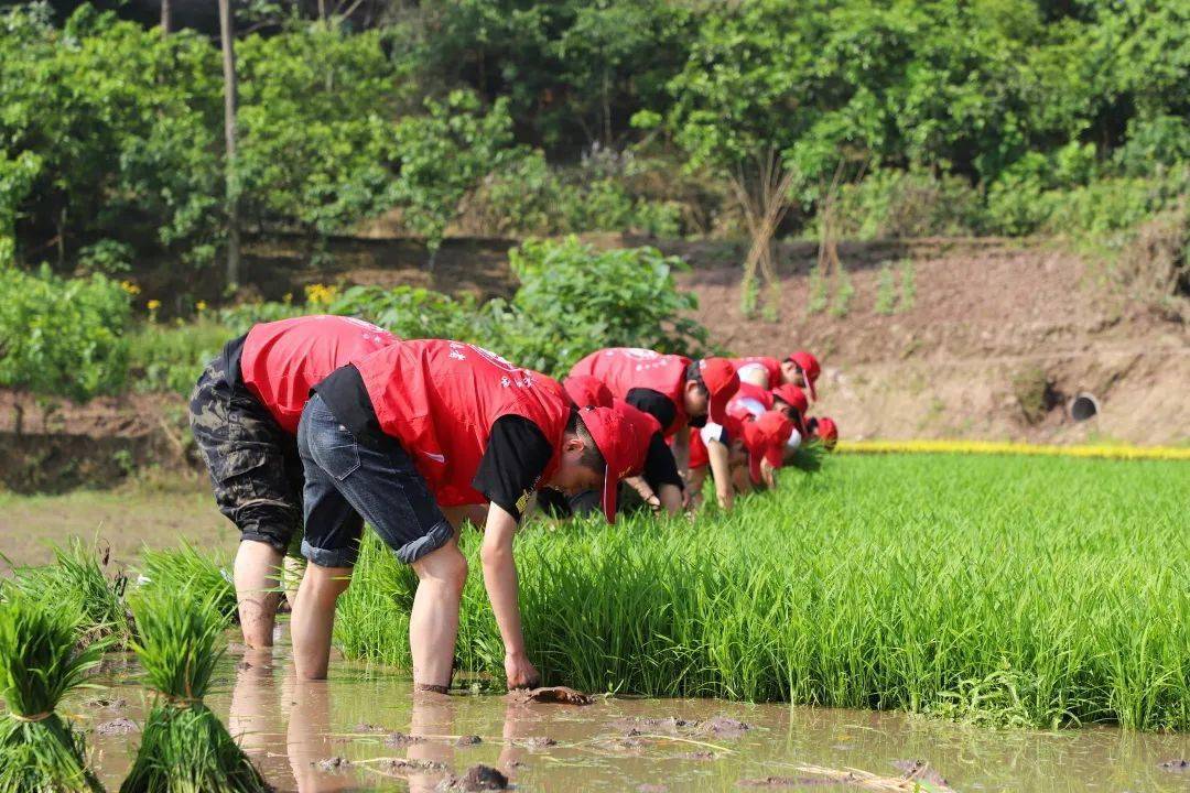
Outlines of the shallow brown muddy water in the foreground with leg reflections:
{"type": "MultiPolygon", "coordinates": [[[[138,737],[96,728],[142,722],[146,703],[134,669],[117,668],[109,679],[111,688],[86,692],[63,710],[88,729],[100,776],[115,789],[138,737]]],[[[282,649],[230,655],[207,703],[278,791],[302,793],[433,791],[476,763],[502,769],[521,791],[898,789],[891,785],[912,768],[906,761],[928,763],[925,779],[944,778],[954,791],[1190,789],[1190,769],[1161,767],[1190,757],[1190,735],[992,731],[719,700],[578,707],[496,696],[414,698],[407,678],[345,662],[328,681],[299,684],[282,649]],[[832,781],[847,769],[875,779],[832,781]]]]}

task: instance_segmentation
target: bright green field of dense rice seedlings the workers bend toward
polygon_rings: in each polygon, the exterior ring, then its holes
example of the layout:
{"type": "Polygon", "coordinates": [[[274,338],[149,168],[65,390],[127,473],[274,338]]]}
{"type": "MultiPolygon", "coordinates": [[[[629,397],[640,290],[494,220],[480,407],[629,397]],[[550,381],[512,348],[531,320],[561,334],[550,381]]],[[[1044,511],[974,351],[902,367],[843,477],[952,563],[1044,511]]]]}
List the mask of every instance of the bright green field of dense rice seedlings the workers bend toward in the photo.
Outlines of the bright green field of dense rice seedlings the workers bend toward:
{"type": "MultiPolygon", "coordinates": [[[[827,458],[693,524],[530,524],[526,642],[546,680],[591,691],[1190,730],[1188,472],[827,458]]],[[[463,549],[458,668],[499,681],[476,533],[463,549]]],[[[337,623],[349,656],[408,663],[415,584],[365,543],[337,623]]]]}

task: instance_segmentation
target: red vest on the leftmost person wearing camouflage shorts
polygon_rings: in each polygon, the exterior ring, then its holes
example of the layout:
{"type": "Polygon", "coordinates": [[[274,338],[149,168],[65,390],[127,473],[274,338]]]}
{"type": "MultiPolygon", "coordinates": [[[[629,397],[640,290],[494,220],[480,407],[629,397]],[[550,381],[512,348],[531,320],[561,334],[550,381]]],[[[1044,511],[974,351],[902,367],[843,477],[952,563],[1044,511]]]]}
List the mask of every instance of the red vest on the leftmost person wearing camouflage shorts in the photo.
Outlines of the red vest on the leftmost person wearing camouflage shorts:
{"type": "Polygon", "coordinates": [[[346,316],[298,316],[256,325],[239,357],[240,379],[281,428],[298,434],[309,390],[322,378],[396,341],[370,322],[346,316]]]}

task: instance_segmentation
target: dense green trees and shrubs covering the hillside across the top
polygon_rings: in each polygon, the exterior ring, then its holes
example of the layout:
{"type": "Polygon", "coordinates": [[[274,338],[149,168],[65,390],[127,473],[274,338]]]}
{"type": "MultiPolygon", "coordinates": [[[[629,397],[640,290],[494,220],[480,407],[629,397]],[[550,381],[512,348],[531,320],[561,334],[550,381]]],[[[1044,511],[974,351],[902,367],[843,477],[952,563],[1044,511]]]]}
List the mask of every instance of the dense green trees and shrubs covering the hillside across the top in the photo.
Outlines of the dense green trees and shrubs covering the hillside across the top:
{"type": "Polygon", "coordinates": [[[318,24],[275,5],[237,12],[231,169],[213,31],[6,10],[0,257],[208,266],[227,174],[250,233],[396,210],[431,248],[452,228],[738,235],[771,162],[783,234],[814,233],[835,183],[839,233],[906,237],[1106,233],[1190,178],[1175,0],[377,0],[318,24]]]}

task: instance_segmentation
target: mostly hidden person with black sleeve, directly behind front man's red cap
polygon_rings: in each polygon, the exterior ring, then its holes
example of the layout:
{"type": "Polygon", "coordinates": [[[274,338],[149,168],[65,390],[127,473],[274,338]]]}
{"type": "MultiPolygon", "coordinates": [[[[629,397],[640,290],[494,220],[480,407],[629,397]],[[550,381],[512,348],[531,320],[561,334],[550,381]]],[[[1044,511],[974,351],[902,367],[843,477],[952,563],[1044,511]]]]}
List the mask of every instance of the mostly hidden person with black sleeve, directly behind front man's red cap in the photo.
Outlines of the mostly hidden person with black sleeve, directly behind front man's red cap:
{"type": "MultiPolygon", "coordinates": [[[[563,380],[563,386],[580,408],[589,405],[615,408],[635,428],[639,436],[649,439],[643,457],[633,461],[625,484],[635,490],[647,506],[654,510],[664,509],[670,515],[679,514],[685,508],[683,498],[685,484],[677,472],[674,454],[665,443],[660,423],[647,413],[614,398],[610,389],[594,377],[568,377],[563,380]]],[[[549,506],[556,515],[562,516],[584,515],[599,509],[599,493],[594,491],[580,493],[570,499],[543,493],[543,501],[549,502],[543,506],[549,506]]]]}

